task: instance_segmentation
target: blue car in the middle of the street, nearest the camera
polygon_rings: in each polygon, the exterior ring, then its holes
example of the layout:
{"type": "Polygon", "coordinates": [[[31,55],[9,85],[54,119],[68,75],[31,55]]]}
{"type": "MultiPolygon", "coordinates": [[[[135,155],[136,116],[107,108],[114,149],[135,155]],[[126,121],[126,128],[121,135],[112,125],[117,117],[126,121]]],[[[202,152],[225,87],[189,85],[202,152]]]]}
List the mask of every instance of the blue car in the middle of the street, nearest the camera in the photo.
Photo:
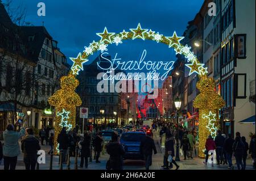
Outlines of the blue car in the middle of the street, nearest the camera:
{"type": "Polygon", "coordinates": [[[143,160],[140,146],[142,139],[146,136],[145,132],[126,132],[120,137],[120,143],[125,149],[125,155],[123,159],[137,159],[143,160]]]}

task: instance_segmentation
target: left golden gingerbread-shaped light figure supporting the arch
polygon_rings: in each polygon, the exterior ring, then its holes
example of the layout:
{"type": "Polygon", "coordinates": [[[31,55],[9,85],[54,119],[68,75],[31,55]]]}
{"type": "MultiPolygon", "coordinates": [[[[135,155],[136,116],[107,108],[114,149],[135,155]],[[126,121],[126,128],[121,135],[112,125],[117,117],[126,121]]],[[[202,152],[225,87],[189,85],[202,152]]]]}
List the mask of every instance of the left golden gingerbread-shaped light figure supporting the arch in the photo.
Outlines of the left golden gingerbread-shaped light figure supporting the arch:
{"type": "Polygon", "coordinates": [[[59,135],[61,129],[65,127],[65,125],[67,125],[67,127],[68,125],[72,125],[72,127],[68,127],[69,130],[71,128],[75,128],[76,126],[76,107],[81,106],[82,103],[79,95],[75,92],[78,85],[79,81],[75,78],[75,75],[69,73],[67,76],[60,78],[61,89],[57,90],[48,99],[49,104],[55,106],[56,110],[54,154],[58,154],[59,148],[57,148],[57,136],[59,135]],[[65,122],[65,125],[62,124],[63,122],[65,122]]]}

